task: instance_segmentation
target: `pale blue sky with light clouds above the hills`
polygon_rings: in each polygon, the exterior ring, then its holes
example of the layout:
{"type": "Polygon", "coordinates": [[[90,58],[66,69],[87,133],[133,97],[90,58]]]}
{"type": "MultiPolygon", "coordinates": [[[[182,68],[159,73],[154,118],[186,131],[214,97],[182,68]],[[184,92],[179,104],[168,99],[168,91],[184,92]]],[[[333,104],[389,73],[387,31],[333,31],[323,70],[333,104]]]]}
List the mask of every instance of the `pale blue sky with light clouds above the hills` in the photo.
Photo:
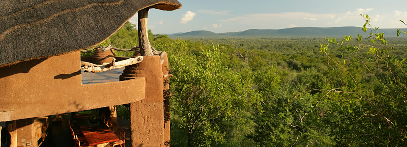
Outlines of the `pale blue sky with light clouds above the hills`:
{"type": "MultiPolygon", "coordinates": [[[[174,11],[150,9],[148,29],[154,34],[195,30],[215,33],[248,29],[292,27],[341,27],[364,24],[360,14],[371,17],[373,27],[407,28],[407,0],[178,0],[174,11]]],[[[137,14],[129,21],[138,25],[137,14]]]]}

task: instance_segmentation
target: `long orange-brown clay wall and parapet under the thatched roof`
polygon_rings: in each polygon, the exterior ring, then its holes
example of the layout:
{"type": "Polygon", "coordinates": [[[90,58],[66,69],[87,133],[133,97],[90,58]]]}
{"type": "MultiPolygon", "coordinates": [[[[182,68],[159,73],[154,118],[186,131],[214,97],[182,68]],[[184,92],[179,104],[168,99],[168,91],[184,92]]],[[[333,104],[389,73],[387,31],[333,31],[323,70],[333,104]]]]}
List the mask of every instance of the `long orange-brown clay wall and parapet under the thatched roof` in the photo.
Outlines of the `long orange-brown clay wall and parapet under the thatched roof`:
{"type": "Polygon", "coordinates": [[[121,105],[145,98],[145,78],[81,84],[80,53],[0,68],[0,122],[121,105]]]}

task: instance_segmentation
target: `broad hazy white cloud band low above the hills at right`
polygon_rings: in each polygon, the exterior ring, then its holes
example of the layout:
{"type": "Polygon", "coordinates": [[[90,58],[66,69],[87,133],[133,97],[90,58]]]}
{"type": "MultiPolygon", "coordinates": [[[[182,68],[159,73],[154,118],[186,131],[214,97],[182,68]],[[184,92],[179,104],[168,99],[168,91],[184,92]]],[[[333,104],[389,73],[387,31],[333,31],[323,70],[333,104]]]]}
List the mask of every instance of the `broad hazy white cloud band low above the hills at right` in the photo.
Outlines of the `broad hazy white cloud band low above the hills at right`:
{"type": "Polygon", "coordinates": [[[357,8],[340,13],[255,13],[238,15],[219,20],[223,25],[239,26],[243,29],[282,29],[288,27],[362,27],[365,20],[360,14],[368,14],[372,27],[407,28],[399,20],[407,22],[407,11],[387,10],[382,12],[373,8],[357,8]]]}

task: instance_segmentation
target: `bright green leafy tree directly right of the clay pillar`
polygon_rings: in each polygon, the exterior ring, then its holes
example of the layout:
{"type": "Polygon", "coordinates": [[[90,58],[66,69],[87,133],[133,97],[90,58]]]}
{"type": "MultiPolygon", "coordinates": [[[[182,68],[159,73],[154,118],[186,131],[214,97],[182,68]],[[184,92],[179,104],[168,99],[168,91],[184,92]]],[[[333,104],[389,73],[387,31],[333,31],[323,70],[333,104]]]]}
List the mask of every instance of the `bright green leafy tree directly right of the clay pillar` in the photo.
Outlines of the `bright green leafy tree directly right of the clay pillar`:
{"type": "MultiPolygon", "coordinates": [[[[174,53],[171,53],[174,54],[174,53]]],[[[219,46],[170,56],[174,77],[170,80],[171,110],[187,131],[187,147],[206,147],[224,142],[225,122],[259,102],[250,79],[222,65],[219,46]]]]}

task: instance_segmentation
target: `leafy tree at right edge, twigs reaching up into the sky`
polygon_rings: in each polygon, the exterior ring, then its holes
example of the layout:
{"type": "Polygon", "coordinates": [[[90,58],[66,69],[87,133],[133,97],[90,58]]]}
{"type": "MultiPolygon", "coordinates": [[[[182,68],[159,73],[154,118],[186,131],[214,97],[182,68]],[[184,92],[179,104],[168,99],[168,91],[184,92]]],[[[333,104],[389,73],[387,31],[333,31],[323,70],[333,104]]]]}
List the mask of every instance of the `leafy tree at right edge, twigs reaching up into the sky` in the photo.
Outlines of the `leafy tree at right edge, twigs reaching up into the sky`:
{"type": "MultiPolygon", "coordinates": [[[[329,53],[329,44],[321,44],[320,48],[321,53],[353,83],[338,89],[323,89],[327,95],[342,102],[337,112],[346,119],[339,127],[341,140],[338,142],[340,146],[404,146],[407,143],[406,57],[395,54],[396,50],[388,44],[385,34],[371,26],[368,15],[362,16],[365,18],[362,30],[366,32],[366,39],[360,34],[356,35],[355,41],[350,35],[341,42],[327,39],[330,44],[352,52],[346,57],[347,62],[335,60],[329,53]],[[359,72],[352,71],[358,67],[359,72]],[[371,76],[358,77],[355,75],[358,73],[371,76]],[[357,140],[354,139],[356,136],[359,137],[357,140]]],[[[397,35],[400,33],[397,30],[397,35]]]]}

